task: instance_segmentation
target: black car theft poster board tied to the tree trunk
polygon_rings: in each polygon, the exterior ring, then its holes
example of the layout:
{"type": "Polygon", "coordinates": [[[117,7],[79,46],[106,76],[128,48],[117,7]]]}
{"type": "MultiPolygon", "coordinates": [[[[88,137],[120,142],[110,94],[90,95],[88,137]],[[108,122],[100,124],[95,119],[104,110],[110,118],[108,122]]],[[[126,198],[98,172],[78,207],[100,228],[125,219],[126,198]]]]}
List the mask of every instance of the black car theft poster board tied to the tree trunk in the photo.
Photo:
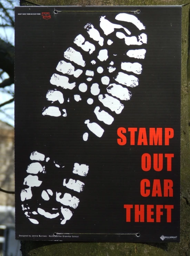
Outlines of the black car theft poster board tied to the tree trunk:
{"type": "Polygon", "coordinates": [[[180,240],[181,7],[16,7],[16,239],[180,240]]]}

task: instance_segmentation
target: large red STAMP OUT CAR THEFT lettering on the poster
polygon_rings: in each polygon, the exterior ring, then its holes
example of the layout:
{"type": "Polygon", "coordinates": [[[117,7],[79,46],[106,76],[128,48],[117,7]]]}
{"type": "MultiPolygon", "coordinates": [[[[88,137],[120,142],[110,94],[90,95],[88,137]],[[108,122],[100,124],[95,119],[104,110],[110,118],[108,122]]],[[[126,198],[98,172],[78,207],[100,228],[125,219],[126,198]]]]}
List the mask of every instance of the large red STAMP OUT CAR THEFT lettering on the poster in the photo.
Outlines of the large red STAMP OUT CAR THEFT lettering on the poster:
{"type": "MultiPolygon", "coordinates": [[[[137,146],[169,146],[170,140],[174,137],[172,128],[149,128],[149,138],[146,128],[130,127],[128,131],[124,127],[117,130],[117,142],[120,146],[126,144],[137,146]],[[148,138],[148,139],[147,139],[148,138]],[[129,140],[129,141],[128,141],[129,140]]],[[[172,171],[172,159],[174,154],[149,154],[141,156],[142,171],[172,171]],[[166,166],[163,166],[166,163],[166,166]]],[[[173,181],[171,179],[142,179],[140,181],[140,195],[142,197],[173,197],[173,181]]],[[[164,215],[165,221],[172,221],[173,205],[132,205],[124,204],[126,208],[126,221],[131,222],[134,215],[134,222],[161,222],[164,215]],[[146,213],[146,214],[145,214],[146,213]]]]}

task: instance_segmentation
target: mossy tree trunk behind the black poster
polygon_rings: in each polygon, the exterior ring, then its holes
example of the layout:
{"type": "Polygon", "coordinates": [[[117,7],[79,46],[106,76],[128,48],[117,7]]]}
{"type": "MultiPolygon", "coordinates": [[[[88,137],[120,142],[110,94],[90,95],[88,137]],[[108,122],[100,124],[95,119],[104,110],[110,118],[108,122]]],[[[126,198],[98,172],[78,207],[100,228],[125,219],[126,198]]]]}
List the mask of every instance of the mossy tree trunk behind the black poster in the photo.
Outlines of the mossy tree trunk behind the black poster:
{"type": "Polygon", "coordinates": [[[190,152],[188,130],[188,0],[20,0],[21,6],[144,6],[182,5],[182,73],[181,73],[181,242],[180,243],[68,243],[21,241],[23,256],[190,256],[190,152]],[[187,5],[185,5],[187,4],[187,5]]]}

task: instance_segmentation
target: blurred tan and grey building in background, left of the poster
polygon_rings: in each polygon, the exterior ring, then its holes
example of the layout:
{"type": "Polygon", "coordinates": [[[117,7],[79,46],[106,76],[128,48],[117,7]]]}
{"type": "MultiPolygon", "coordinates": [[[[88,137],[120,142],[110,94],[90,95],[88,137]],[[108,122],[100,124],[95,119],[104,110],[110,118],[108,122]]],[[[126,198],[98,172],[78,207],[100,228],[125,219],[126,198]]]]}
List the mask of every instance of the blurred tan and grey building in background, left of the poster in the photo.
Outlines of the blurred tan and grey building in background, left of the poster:
{"type": "MultiPolygon", "coordinates": [[[[14,191],[14,127],[0,121],[0,188],[14,191]]],[[[0,191],[0,256],[20,256],[15,240],[14,194],[0,191]]]]}

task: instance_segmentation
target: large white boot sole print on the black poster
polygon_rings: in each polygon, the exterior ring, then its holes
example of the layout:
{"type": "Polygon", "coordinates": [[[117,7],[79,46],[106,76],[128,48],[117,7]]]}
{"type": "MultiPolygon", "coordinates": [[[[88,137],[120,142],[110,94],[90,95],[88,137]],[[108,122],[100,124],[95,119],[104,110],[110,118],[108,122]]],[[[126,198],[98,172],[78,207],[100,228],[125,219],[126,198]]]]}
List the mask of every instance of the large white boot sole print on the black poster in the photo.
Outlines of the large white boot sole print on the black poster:
{"type": "MultiPolygon", "coordinates": [[[[43,116],[55,118],[62,116],[66,119],[72,102],[77,102],[80,108],[80,102],[86,100],[87,108],[93,107],[93,115],[97,118],[97,122],[91,122],[90,118],[83,120],[87,129],[81,138],[87,141],[86,143],[93,134],[101,138],[106,126],[111,125],[115,116],[122,113],[126,102],[132,96],[130,90],[139,84],[137,76],[142,72],[142,65],[139,62],[146,54],[144,45],[147,43],[147,35],[141,33],[145,27],[136,16],[119,13],[114,20],[110,21],[106,16],[101,16],[99,21],[99,27],[87,23],[83,33],[74,37],[74,48],[69,47],[64,51],[63,59],[59,61],[56,72],[50,79],[54,87],[47,91],[48,106],[42,110],[43,116]],[[130,24],[131,29],[128,30],[123,24],[125,26],[130,24]],[[131,30],[136,31],[135,34],[138,33],[138,36],[132,36],[131,30]],[[114,47],[115,41],[118,40],[122,44],[122,58],[121,55],[118,56],[114,47]],[[85,60],[85,54],[92,56],[90,61],[85,60]],[[117,70],[115,66],[120,69],[117,70]],[[93,82],[96,76],[99,76],[99,82],[97,80],[93,82]],[[69,97],[66,93],[68,91],[72,92],[69,97]],[[99,102],[98,106],[97,102],[99,102]]],[[[40,195],[36,203],[38,206],[33,208],[33,204],[30,204],[33,197],[32,190],[34,187],[40,189],[41,184],[46,180],[50,169],[48,165],[54,168],[64,168],[64,166],[52,160],[51,156],[45,156],[38,151],[31,153],[30,160],[32,162],[26,170],[28,176],[23,182],[25,187],[21,191],[22,210],[25,216],[33,224],[40,223],[39,215],[46,219],[59,218],[60,224],[66,224],[79,205],[78,197],[84,189],[85,178],[89,171],[88,163],[74,163],[72,178],[62,179],[66,193],[52,191],[48,186],[47,189],[39,190],[40,195]],[[51,213],[43,209],[43,204],[50,201],[51,206],[54,202],[51,213]]]]}

